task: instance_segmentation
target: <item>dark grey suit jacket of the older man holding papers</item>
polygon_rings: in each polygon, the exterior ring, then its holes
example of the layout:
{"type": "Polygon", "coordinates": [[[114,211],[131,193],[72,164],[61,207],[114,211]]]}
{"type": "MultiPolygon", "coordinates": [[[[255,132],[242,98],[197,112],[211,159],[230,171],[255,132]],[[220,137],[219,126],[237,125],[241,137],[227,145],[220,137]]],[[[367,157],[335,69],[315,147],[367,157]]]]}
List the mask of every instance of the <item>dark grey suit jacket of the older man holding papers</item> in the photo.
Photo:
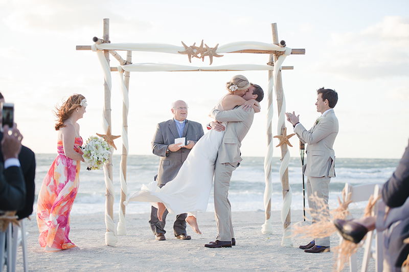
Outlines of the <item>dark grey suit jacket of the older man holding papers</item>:
{"type": "MultiPolygon", "coordinates": [[[[197,143],[204,134],[200,123],[189,120],[185,121],[182,137],[197,143]]],[[[177,138],[180,137],[174,119],[156,125],[156,131],[151,144],[153,154],[161,157],[155,179],[158,184],[166,184],[174,179],[189,155],[190,149],[188,148],[180,148],[176,152],[166,153],[168,146],[174,144],[177,138]]]]}

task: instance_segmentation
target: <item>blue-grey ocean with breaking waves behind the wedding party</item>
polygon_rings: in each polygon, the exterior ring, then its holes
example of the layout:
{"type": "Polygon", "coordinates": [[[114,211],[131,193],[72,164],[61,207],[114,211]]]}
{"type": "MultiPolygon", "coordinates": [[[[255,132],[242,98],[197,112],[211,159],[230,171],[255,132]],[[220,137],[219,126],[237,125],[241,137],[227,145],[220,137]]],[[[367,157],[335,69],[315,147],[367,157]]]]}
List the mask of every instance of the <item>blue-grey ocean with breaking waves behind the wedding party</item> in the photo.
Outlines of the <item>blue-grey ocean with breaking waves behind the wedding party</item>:
{"type": "MultiPolygon", "coordinates": [[[[36,154],[36,198],[41,188],[41,183],[54,161],[56,154],[36,154]]],[[[121,185],[119,179],[119,164],[121,155],[113,155],[113,184],[115,186],[115,202],[113,206],[116,218],[118,218],[121,185]]],[[[159,157],[155,155],[129,155],[127,163],[128,196],[140,190],[143,184],[152,182],[157,173],[159,157]]],[[[280,158],[272,160],[272,196],[271,210],[281,210],[283,195],[279,179],[280,158]]],[[[392,175],[398,166],[397,159],[374,159],[374,158],[336,158],[336,177],[331,179],[329,205],[330,209],[338,207],[337,197],[345,183],[352,186],[369,183],[384,183],[392,175]]],[[[301,158],[292,157],[288,167],[289,183],[292,190],[291,210],[303,209],[303,186],[301,172],[301,158]]],[[[305,183],[307,179],[305,178],[305,183]]],[[[263,195],[265,188],[264,180],[264,157],[243,157],[243,161],[234,172],[230,183],[229,199],[232,211],[264,211],[263,195]]],[[[306,196],[307,197],[307,196],[306,196]]],[[[34,203],[34,213],[36,211],[34,203]]],[[[207,212],[214,212],[213,190],[209,197],[207,212]]],[[[365,203],[350,205],[351,208],[363,208],[365,203]],[[355,205],[355,206],[353,206],[355,205]]],[[[306,207],[308,202],[306,199],[306,207]]],[[[104,171],[87,171],[84,164],[81,165],[80,186],[77,198],[74,202],[72,215],[104,214],[105,211],[105,183],[104,171]]],[[[149,203],[131,202],[126,207],[126,213],[139,214],[149,213],[149,203]]]]}

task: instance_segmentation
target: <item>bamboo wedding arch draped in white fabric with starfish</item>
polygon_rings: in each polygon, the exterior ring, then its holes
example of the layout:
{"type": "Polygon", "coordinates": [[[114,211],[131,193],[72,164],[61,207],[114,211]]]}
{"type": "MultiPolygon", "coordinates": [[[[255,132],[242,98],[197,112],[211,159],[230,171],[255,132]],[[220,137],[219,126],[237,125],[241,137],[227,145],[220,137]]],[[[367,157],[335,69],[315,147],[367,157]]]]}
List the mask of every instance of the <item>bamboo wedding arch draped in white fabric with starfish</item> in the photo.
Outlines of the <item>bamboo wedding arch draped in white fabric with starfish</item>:
{"type": "MultiPolygon", "coordinates": [[[[117,235],[126,235],[125,224],[125,207],[123,202],[126,200],[127,186],[126,186],[126,164],[128,156],[128,135],[127,135],[127,116],[129,108],[128,99],[128,87],[130,72],[158,72],[158,71],[268,71],[268,92],[267,92],[267,154],[264,161],[265,182],[266,188],[264,192],[264,206],[266,221],[262,226],[262,233],[271,233],[271,193],[272,193],[272,181],[271,181],[271,160],[273,153],[271,123],[274,108],[272,106],[272,93],[275,90],[279,121],[278,121],[278,134],[282,135],[285,128],[285,97],[282,87],[281,70],[292,70],[292,66],[282,66],[282,63],[286,56],[290,54],[304,55],[305,49],[290,49],[286,47],[285,42],[278,42],[277,24],[271,24],[273,44],[263,43],[257,41],[238,41],[228,44],[222,44],[220,47],[209,48],[206,44],[206,50],[203,48],[203,41],[200,48],[193,46],[187,47],[183,43],[184,47],[174,46],[171,44],[163,43],[110,43],[109,40],[109,19],[104,19],[103,38],[93,38],[95,44],[92,46],[77,46],[77,50],[92,50],[97,53],[98,59],[101,63],[104,74],[104,110],[103,110],[103,129],[107,131],[111,126],[111,108],[110,108],[110,91],[111,91],[111,75],[110,72],[117,71],[120,78],[120,89],[123,98],[122,107],[122,156],[120,164],[120,181],[121,181],[121,205],[119,209],[119,223],[118,229],[115,229],[115,223],[113,222],[113,200],[115,195],[115,188],[112,183],[112,154],[109,157],[108,165],[104,166],[105,173],[105,185],[106,185],[106,208],[105,208],[105,223],[107,232],[105,233],[105,243],[110,246],[115,246],[118,238],[117,235]],[[126,60],[124,60],[116,51],[127,51],[126,60]],[[198,55],[200,51],[200,58],[209,56],[210,63],[212,64],[212,57],[217,57],[218,54],[224,53],[261,53],[269,54],[269,61],[267,65],[259,64],[230,64],[221,66],[192,66],[192,65],[177,65],[171,63],[131,63],[132,51],[146,51],[146,52],[161,52],[170,54],[187,54],[189,61],[194,55],[198,55]],[[188,52],[188,53],[186,53],[188,52]],[[207,52],[207,55],[206,53],[207,52]],[[204,53],[204,54],[203,54],[204,53]],[[120,65],[118,67],[110,67],[109,54],[115,57],[120,65]],[[124,79],[125,77],[125,79],[124,79]]],[[[183,56],[183,55],[182,55],[183,56]]],[[[280,167],[280,181],[283,187],[283,210],[281,219],[284,226],[284,234],[282,239],[283,246],[292,246],[290,237],[290,205],[291,205],[291,188],[288,184],[288,164],[289,164],[289,152],[287,145],[281,146],[282,163],[280,167]]]]}

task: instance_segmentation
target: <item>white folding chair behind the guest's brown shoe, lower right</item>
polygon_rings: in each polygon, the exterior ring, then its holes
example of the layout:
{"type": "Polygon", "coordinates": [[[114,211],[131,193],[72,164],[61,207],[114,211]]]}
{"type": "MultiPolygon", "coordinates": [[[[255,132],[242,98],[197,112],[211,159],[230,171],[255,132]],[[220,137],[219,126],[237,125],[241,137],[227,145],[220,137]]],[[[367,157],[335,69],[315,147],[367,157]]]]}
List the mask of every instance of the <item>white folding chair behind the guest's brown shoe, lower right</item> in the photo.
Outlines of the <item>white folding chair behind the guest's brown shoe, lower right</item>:
{"type": "MultiPolygon", "coordinates": [[[[373,195],[374,198],[376,198],[380,194],[380,184],[365,184],[365,185],[358,185],[352,187],[349,183],[345,184],[345,199],[344,201],[347,200],[348,194],[351,193],[351,198],[352,202],[361,202],[361,201],[368,201],[370,196],[373,195]]],[[[383,202],[382,201],[377,201],[375,204],[375,208],[372,211],[372,216],[377,215],[378,211],[381,211],[384,209],[382,206],[383,202]]],[[[348,219],[348,218],[347,218],[348,219]]],[[[383,236],[382,232],[376,233],[375,235],[375,253],[372,253],[372,239],[374,236],[374,232],[376,231],[370,231],[367,234],[366,242],[365,242],[365,253],[363,256],[362,260],[362,266],[361,266],[361,272],[366,272],[368,269],[368,261],[370,257],[375,258],[376,260],[376,272],[381,272],[382,271],[382,264],[383,264],[383,236]]],[[[343,238],[340,236],[339,238],[339,245],[342,244],[343,238]]],[[[340,263],[337,264],[338,268],[340,263]]],[[[356,261],[356,254],[353,254],[349,258],[349,270],[350,272],[356,272],[357,271],[357,261],[356,261]]]]}

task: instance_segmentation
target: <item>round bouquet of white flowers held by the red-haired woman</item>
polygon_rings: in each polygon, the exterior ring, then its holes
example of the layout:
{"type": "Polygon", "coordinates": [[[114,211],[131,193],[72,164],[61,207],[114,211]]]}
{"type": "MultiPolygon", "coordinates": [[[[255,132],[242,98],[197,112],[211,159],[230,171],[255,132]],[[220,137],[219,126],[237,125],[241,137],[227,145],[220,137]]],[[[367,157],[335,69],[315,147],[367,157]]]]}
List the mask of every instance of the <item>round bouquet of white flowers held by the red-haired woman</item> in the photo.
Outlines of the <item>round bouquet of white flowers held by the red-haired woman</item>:
{"type": "Polygon", "coordinates": [[[102,138],[91,136],[86,140],[86,144],[81,148],[82,157],[87,166],[87,170],[99,170],[102,165],[108,162],[110,147],[102,138]]]}

